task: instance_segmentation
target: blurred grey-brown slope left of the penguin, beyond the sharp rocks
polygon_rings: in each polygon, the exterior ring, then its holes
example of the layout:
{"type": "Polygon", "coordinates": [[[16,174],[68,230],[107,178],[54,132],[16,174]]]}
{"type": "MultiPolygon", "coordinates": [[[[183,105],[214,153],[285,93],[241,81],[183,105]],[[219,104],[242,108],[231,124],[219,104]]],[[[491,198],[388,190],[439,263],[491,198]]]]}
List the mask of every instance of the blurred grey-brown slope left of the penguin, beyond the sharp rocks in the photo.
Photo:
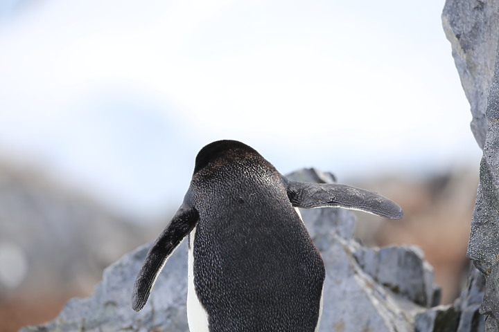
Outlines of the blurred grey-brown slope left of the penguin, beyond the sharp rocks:
{"type": "Polygon", "coordinates": [[[132,223],[93,199],[0,160],[0,331],[53,318],[89,295],[102,270],[154,239],[164,223],[132,223]]]}

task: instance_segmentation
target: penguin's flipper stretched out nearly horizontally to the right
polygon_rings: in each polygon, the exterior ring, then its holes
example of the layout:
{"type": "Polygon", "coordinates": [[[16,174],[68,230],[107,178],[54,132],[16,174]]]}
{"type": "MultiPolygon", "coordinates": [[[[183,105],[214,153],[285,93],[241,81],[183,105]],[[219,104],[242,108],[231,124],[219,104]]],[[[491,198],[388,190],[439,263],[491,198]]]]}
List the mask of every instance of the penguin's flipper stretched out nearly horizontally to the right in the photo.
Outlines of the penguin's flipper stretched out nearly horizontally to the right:
{"type": "Polygon", "coordinates": [[[388,219],[401,219],[403,216],[402,209],[394,201],[349,185],[287,181],[287,190],[295,208],[345,208],[388,219]]]}

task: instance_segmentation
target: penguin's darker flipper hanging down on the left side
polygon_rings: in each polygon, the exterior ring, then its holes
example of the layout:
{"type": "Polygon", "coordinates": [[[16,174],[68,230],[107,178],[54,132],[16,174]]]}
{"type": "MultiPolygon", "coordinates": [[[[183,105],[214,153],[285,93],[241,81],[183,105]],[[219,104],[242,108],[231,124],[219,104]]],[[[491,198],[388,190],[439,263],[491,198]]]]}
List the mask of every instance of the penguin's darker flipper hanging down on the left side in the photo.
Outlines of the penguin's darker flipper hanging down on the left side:
{"type": "Polygon", "coordinates": [[[180,206],[173,219],[163,230],[161,235],[152,244],[143,262],[139,275],[135,279],[132,293],[132,308],[139,311],[146,304],[152,286],[166,264],[166,259],[177,248],[182,239],[193,230],[198,222],[199,214],[195,208],[186,205],[180,206]]]}

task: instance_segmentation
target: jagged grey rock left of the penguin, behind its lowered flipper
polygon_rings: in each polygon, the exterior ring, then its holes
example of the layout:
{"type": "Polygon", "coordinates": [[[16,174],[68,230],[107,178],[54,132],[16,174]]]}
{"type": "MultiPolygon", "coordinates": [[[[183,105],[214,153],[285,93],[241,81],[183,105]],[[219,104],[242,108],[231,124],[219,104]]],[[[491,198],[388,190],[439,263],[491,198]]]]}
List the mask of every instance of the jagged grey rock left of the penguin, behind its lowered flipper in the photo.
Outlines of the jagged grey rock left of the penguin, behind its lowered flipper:
{"type": "Polygon", "coordinates": [[[182,243],[168,259],[146,307],[132,310],[132,286],[152,243],[107,267],[94,295],[67,302],[55,320],[28,331],[189,331],[186,315],[187,247],[182,243]]]}

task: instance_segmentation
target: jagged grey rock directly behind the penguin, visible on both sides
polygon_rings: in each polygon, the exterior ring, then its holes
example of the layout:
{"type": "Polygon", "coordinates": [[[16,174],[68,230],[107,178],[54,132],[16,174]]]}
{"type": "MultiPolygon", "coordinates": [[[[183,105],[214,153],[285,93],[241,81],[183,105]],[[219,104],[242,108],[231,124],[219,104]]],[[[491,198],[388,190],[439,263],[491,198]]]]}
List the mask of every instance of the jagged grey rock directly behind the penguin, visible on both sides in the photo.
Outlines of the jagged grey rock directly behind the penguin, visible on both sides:
{"type": "MultiPolygon", "coordinates": [[[[331,174],[311,169],[289,177],[333,180],[331,174]]],[[[326,265],[319,331],[414,331],[414,315],[436,304],[439,296],[421,251],[361,246],[353,239],[355,218],[347,210],[301,210],[301,214],[326,265]]],[[[132,311],[132,286],[149,246],[107,268],[92,297],[72,299],[53,322],[21,331],[189,331],[185,241],[168,259],[146,306],[139,313],[132,311]]]]}

